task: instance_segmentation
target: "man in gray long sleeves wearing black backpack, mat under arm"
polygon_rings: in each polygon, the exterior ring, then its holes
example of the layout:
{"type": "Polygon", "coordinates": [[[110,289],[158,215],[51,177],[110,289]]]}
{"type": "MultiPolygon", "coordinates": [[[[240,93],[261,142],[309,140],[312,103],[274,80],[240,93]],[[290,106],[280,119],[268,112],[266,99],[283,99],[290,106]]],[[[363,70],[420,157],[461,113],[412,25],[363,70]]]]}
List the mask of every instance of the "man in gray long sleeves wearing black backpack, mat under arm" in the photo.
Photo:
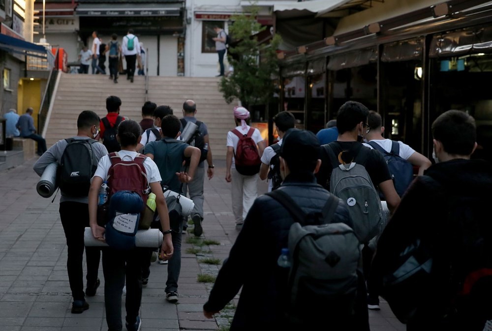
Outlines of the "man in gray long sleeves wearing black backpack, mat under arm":
{"type": "Polygon", "coordinates": [[[49,164],[59,164],[60,219],[68,246],[67,272],[73,297],[72,314],[89,309],[85,296],[94,296],[100,283],[97,278],[100,248],[85,247],[87,287],[84,293],[84,231],[89,226],[89,187],[99,159],[108,154],[106,148],[94,140],[99,135],[98,128],[97,114],[83,111],[77,119],[77,135],[57,142],[34,164],[34,171],[39,176],[49,164]]]}

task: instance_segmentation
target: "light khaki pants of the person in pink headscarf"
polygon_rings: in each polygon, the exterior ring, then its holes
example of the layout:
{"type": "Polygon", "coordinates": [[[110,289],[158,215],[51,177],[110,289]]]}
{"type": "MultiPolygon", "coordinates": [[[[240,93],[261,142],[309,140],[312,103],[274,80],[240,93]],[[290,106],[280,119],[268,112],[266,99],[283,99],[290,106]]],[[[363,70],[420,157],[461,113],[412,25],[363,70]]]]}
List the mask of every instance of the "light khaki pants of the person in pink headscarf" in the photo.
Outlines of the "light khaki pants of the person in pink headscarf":
{"type": "Polygon", "coordinates": [[[242,224],[247,212],[258,196],[258,174],[253,176],[241,175],[236,169],[231,169],[232,177],[232,212],[236,224],[242,224]]]}

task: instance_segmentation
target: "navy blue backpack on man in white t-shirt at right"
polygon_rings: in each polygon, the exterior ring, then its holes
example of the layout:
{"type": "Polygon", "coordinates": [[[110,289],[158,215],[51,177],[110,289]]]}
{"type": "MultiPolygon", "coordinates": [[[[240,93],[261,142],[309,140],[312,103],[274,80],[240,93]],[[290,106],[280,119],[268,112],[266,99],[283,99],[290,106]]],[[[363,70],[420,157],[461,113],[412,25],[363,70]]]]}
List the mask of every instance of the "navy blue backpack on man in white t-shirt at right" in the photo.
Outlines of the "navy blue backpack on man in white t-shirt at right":
{"type": "Polygon", "coordinates": [[[376,142],[368,142],[373,149],[379,150],[384,155],[395,189],[401,197],[413,181],[413,166],[410,162],[400,157],[400,144],[397,141],[391,141],[391,143],[391,151],[387,152],[376,142]]]}

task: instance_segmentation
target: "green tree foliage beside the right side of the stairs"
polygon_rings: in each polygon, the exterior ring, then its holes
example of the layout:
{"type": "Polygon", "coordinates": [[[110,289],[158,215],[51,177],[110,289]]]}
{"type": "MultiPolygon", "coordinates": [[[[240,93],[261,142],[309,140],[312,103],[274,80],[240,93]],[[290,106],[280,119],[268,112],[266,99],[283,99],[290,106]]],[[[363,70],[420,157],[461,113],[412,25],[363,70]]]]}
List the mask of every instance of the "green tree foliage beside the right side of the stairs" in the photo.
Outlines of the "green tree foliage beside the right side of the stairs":
{"type": "Polygon", "coordinates": [[[241,100],[244,107],[267,104],[274,94],[272,77],[278,74],[277,48],[280,36],[275,34],[268,44],[258,44],[256,34],[267,28],[256,21],[257,7],[249,14],[234,15],[229,34],[234,47],[229,47],[228,61],[233,72],[222,77],[219,90],[227,103],[241,100]]]}

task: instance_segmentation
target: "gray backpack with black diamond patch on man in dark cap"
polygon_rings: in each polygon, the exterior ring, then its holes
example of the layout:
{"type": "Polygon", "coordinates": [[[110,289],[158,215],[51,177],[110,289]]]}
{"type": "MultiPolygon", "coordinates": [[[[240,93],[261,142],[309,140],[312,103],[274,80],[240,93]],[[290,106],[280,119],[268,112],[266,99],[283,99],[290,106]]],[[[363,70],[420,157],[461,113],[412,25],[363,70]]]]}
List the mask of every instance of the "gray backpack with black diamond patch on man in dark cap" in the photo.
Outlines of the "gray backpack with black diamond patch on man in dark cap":
{"type": "Polygon", "coordinates": [[[331,223],[336,221],[339,199],[330,194],[321,212],[306,214],[283,190],[267,195],[294,219],[288,236],[289,320],[311,323],[325,319],[327,312],[338,321],[350,319],[357,294],[360,250],[352,228],[344,223],[331,223]]]}

